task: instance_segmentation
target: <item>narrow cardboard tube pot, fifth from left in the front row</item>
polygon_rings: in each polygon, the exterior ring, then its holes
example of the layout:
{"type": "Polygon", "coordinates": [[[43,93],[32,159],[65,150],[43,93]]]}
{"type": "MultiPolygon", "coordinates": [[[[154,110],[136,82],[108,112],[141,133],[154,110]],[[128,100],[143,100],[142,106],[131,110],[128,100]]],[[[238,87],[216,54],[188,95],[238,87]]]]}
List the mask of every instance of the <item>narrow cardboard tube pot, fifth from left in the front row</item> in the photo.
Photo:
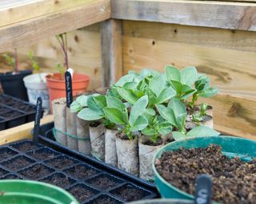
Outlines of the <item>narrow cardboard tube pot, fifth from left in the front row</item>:
{"type": "Polygon", "coordinates": [[[117,148],[115,144],[115,135],[117,130],[105,129],[105,163],[114,167],[118,166],[117,148]]]}

